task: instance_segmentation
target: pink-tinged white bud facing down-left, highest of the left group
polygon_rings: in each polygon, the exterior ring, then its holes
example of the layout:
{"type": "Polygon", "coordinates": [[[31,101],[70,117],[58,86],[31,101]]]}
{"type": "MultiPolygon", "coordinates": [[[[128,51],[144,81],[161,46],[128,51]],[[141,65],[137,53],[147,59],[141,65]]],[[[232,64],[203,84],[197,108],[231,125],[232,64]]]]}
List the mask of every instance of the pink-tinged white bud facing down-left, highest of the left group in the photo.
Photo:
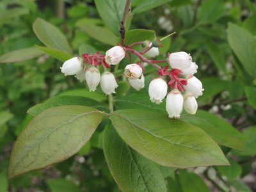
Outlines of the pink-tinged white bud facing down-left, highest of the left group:
{"type": "Polygon", "coordinates": [[[120,46],[115,46],[106,51],[105,60],[109,65],[116,65],[125,57],[125,51],[120,46]]]}

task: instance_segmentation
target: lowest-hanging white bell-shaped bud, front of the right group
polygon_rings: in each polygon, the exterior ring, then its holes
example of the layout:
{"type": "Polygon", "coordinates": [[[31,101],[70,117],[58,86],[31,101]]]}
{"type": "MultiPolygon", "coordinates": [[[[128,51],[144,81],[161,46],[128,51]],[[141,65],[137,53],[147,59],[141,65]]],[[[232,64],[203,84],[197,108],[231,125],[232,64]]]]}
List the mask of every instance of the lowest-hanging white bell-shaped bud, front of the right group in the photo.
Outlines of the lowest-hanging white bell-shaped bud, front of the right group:
{"type": "Polygon", "coordinates": [[[183,96],[175,89],[168,93],[166,98],[166,111],[170,118],[179,118],[183,108],[183,96]]]}

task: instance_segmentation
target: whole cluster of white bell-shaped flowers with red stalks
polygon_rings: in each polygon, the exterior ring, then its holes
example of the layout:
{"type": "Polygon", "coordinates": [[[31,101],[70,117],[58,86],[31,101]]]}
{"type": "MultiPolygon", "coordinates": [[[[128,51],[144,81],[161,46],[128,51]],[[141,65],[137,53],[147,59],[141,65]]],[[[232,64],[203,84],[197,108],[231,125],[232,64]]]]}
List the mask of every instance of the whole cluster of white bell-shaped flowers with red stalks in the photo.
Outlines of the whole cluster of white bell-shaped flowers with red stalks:
{"type": "Polygon", "coordinates": [[[186,52],[173,52],[168,54],[166,60],[152,60],[159,55],[158,47],[153,47],[152,42],[147,42],[143,51],[132,49],[133,45],[145,44],[145,42],[136,42],[129,46],[117,45],[112,47],[106,54],[83,54],[83,61],[76,57],[65,61],[61,67],[61,72],[65,76],[75,75],[80,81],[86,81],[90,91],[95,91],[100,84],[102,92],[109,95],[115,93],[118,87],[115,76],[108,71],[111,65],[117,65],[122,61],[127,52],[135,54],[141,62],[126,65],[124,76],[128,78],[129,83],[135,90],[141,90],[145,86],[142,63],[148,63],[157,68],[159,77],[155,77],[149,84],[148,94],[150,100],[160,104],[166,97],[166,111],[170,118],[179,118],[182,109],[188,113],[195,114],[198,108],[196,98],[202,95],[204,89],[200,80],[194,74],[198,66],[192,61],[190,54],[186,52]],[[157,63],[168,63],[165,67],[157,63]],[[100,76],[98,66],[104,67],[104,72],[100,76]],[[168,93],[168,87],[170,92],[168,93]],[[167,95],[167,96],[166,96],[167,95]]]}

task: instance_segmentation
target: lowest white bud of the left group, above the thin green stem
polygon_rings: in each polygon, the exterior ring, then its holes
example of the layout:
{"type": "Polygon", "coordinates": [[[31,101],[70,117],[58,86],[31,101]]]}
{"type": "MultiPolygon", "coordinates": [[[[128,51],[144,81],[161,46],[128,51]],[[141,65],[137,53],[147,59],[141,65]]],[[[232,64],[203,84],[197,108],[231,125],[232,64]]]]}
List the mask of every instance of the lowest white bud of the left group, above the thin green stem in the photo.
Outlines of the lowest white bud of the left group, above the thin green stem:
{"type": "Polygon", "coordinates": [[[106,95],[116,93],[115,88],[118,87],[115,76],[111,72],[104,72],[100,78],[100,88],[106,95]]]}

